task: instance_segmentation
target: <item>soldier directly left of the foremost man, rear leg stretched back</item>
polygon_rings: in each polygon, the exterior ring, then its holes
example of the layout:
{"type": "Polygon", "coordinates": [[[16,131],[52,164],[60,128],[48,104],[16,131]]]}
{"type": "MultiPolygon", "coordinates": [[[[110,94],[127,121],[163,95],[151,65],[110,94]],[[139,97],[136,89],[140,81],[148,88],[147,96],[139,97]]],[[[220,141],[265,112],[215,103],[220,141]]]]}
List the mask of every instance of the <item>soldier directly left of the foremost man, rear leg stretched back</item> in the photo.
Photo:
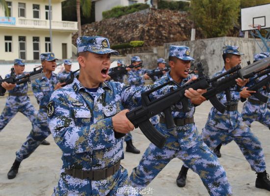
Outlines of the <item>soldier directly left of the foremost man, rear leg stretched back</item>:
{"type": "Polygon", "coordinates": [[[32,90],[39,104],[39,110],[32,130],[27,136],[27,141],[16,152],[16,159],[7,173],[8,179],[16,177],[21,162],[30,156],[40,143],[51,134],[47,124],[46,105],[54,90],[61,88],[61,85],[64,83],[59,83],[56,74],[53,73],[56,67],[55,61],[58,60],[55,58],[54,53],[42,53],[40,54],[40,60],[43,72],[46,73],[46,75],[32,82],[32,90]]]}

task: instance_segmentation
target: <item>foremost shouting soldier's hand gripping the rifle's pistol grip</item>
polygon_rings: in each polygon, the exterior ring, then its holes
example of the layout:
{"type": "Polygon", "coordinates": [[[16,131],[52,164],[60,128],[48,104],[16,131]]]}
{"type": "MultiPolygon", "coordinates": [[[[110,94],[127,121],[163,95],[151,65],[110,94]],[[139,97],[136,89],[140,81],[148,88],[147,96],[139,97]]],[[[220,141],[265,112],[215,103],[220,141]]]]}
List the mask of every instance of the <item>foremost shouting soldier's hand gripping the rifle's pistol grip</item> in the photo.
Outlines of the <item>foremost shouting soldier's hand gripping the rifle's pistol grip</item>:
{"type": "Polygon", "coordinates": [[[129,133],[134,129],[134,125],[126,116],[126,113],[128,112],[129,110],[122,110],[111,118],[114,131],[119,133],[129,133]]]}

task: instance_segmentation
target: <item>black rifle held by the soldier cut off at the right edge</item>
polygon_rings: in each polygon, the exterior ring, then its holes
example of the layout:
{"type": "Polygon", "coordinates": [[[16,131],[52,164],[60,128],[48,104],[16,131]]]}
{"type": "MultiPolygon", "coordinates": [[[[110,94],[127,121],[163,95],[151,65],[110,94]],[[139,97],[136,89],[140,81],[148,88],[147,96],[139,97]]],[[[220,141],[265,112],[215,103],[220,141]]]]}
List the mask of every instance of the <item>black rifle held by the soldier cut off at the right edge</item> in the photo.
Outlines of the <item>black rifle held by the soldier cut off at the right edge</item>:
{"type": "MultiPolygon", "coordinates": [[[[255,78],[253,78],[255,81],[255,84],[251,87],[248,87],[247,90],[248,91],[256,91],[256,93],[254,93],[253,95],[258,98],[260,101],[267,103],[268,101],[268,97],[262,95],[261,93],[258,92],[259,89],[263,88],[263,86],[266,86],[267,92],[270,93],[270,67],[268,68],[268,70],[259,73],[255,78]],[[256,82],[256,79],[267,75],[267,77],[263,78],[261,81],[256,82]]],[[[246,98],[241,98],[241,101],[244,102],[246,100],[246,98]]]]}

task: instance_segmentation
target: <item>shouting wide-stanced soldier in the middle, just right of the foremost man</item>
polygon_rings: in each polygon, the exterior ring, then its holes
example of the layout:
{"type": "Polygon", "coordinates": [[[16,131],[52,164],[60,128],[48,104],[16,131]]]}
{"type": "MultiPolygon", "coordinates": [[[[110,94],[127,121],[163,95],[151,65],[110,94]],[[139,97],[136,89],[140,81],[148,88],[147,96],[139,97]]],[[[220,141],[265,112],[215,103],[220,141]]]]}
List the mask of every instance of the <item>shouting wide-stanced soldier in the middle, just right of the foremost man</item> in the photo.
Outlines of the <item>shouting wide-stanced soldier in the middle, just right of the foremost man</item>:
{"type": "MultiPolygon", "coordinates": [[[[189,75],[190,50],[186,46],[169,47],[169,66],[171,71],[156,84],[162,85],[171,80],[181,86],[191,79],[189,75]]],[[[162,149],[150,144],[144,152],[139,165],[133,169],[129,180],[138,188],[146,187],[162,169],[175,157],[181,159],[194,172],[198,173],[211,196],[232,195],[226,173],[219,164],[215,154],[203,143],[194,124],[194,104],[199,105],[206,99],[201,95],[206,90],[193,91],[196,98],[190,98],[189,112],[181,111],[182,105],[172,107],[175,128],[167,129],[164,114],[160,115],[160,123],[156,128],[165,136],[166,143],[162,149]],[[200,92],[200,93],[198,93],[200,92]]]]}

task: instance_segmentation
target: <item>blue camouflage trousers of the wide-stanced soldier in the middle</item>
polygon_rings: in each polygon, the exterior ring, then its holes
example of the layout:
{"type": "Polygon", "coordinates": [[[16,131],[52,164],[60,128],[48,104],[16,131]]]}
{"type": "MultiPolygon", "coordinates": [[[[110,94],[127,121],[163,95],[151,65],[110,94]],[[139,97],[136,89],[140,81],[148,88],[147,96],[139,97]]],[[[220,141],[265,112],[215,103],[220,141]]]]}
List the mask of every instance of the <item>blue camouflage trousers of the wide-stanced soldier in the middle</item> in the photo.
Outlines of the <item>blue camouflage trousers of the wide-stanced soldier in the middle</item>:
{"type": "MultiPolygon", "coordinates": [[[[164,134],[166,127],[158,124],[156,128],[164,134]]],[[[197,134],[195,125],[186,130],[181,130],[180,127],[174,129],[176,130],[165,134],[167,140],[162,149],[153,144],[146,149],[139,165],[129,177],[132,186],[146,187],[173,158],[179,158],[200,176],[211,196],[231,196],[232,190],[226,172],[216,155],[197,134]]]]}

